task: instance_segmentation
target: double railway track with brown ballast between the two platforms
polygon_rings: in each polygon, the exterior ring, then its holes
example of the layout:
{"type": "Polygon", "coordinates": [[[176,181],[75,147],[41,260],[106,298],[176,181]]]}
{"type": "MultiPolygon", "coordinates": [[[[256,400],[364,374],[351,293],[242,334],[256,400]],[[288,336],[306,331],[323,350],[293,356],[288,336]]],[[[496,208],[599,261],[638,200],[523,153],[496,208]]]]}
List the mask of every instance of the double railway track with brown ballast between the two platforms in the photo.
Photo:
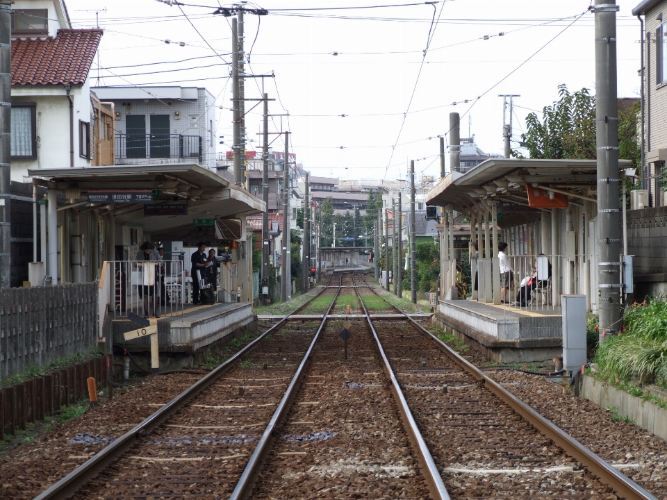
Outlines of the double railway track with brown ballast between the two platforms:
{"type": "Polygon", "coordinates": [[[331,276],[36,499],[654,499],[357,278],[331,276]]]}

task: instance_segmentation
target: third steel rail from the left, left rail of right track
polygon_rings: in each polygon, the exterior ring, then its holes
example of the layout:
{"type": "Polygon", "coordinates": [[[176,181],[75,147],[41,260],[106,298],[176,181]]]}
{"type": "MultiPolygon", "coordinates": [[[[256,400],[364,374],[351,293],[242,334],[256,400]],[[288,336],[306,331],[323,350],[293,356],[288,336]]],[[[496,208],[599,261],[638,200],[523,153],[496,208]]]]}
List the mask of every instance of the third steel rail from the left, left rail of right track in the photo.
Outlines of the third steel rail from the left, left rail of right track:
{"type": "MultiPolygon", "coordinates": [[[[352,276],[352,283],[354,283],[354,276],[352,276]]],[[[395,401],[398,403],[397,406],[401,413],[403,424],[405,425],[405,428],[408,431],[408,435],[413,445],[413,450],[415,451],[417,460],[419,461],[420,472],[424,474],[426,482],[429,485],[431,497],[440,500],[450,500],[450,495],[449,493],[447,493],[447,488],[445,487],[445,483],[443,483],[443,478],[442,476],[440,476],[440,472],[438,471],[436,462],[433,460],[433,457],[431,456],[429,447],[427,446],[424,437],[422,437],[422,433],[420,432],[419,427],[417,426],[417,422],[415,422],[415,418],[412,415],[410,406],[408,405],[408,402],[405,399],[403,391],[401,390],[401,386],[398,383],[396,375],[394,374],[394,371],[389,363],[389,359],[387,358],[386,353],[384,352],[382,343],[380,342],[380,338],[377,335],[377,331],[375,331],[373,322],[370,319],[370,315],[368,314],[368,310],[366,309],[366,306],[364,305],[363,300],[361,299],[361,293],[359,293],[359,288],[357,288],[356,285],[354,286],[354,290],[356,291],[357,297],[359,297],[361,310],[363,310],[363,314],[365,315],[366,320],[368,321],[368,326],[370,326],[370,331],[372,332],[373,338],[375,339],[375,343],[377,344],[377,349],[380,353],[380,357],[382,358],[382,363],[384,365],[385,372],[390,378],[391,391],[394,393],[394,398],[395,401]]]]}

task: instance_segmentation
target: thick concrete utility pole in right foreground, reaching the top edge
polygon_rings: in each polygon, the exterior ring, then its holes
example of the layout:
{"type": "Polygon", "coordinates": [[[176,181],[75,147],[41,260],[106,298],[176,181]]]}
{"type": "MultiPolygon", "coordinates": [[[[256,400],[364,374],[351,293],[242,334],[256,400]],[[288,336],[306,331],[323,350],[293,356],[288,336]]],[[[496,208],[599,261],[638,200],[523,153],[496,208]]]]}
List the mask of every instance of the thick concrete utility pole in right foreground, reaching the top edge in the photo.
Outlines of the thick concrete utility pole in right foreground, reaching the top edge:
{"type": "Polygon", "coordinates": [[[616,0],[595,0],[595,115],[598,149],[600,343],[620,328],[616,0]],[[616,272],[611,272],[616,271],[616,272]]]}

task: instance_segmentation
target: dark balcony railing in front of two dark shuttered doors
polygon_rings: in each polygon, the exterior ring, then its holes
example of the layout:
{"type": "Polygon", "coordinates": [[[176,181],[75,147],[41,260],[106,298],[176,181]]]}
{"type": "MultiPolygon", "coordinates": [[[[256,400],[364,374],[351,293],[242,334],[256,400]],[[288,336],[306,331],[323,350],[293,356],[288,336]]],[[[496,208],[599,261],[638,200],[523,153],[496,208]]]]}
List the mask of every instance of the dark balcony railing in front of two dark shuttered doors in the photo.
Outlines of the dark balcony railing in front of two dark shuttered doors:
{"type": "Polygon", "coordinates": [[[198,158],[201,162],[201,136],[181,134],[116,134],[117,159],[198,158]]]}

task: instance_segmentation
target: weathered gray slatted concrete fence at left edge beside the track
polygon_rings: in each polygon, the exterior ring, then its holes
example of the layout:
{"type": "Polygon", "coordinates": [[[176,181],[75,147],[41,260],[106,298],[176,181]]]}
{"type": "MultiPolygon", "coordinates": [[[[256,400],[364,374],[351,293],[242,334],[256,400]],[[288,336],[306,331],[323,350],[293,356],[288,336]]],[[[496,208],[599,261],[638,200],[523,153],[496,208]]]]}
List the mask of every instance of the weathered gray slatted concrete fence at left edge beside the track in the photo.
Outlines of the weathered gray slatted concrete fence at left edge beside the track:
{"type": "Polygon", "coordinates": [[[0,377],[97,348],[97,283],[0,290],[0,377]]]}

